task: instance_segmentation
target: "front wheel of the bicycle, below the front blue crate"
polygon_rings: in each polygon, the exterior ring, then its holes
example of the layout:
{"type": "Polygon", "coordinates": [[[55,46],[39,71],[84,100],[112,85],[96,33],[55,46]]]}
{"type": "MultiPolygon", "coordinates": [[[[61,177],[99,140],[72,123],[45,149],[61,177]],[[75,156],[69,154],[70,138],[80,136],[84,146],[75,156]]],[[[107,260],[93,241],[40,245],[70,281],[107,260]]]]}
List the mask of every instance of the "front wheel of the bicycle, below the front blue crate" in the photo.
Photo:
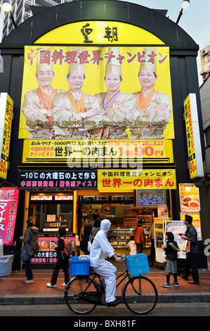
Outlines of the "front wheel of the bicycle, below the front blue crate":
{"type": "Polygon", "coordinates": [[[145,315],[157,304],[157,289],[147,277],[137,275],[127,280],[123,291],[124,303],[132,313],[145,315]]]}

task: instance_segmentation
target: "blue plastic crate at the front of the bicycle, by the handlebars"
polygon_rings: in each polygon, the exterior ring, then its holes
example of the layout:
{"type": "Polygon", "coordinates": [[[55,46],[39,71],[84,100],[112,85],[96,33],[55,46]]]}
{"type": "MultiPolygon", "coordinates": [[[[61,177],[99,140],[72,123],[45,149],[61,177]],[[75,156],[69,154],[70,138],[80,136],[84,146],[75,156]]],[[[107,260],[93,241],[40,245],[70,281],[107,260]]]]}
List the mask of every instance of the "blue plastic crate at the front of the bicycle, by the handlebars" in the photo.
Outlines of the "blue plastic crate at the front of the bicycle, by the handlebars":
{"type": "Polygon", "coordinates": [[[129,272],[132,276],[143,275],[143,273],[150,273],[150,267],[146,254],[135,254],[126,256],[129,267],[129,272]]]}

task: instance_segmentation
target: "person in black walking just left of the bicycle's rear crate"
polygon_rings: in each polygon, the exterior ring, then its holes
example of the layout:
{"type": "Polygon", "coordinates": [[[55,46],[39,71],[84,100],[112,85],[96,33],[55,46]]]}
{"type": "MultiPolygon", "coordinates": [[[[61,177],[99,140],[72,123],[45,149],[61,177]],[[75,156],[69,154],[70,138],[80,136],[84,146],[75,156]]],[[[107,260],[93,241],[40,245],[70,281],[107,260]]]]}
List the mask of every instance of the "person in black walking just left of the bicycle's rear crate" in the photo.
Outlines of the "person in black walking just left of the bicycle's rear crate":
{"type": "Polygon", "coordinates": [[[57,262],[55,263],[55,268],[53,270],[53,275],[51,277],[51,282],[47,283],[47,287],[56,287],[56,282],[58,279],[58,273],[60,269],[63,267],[65,283],[62,286],[66,286],[70,281],[70,273],[69,273],[69,261],[70,256],[66,255],[63,250],[65,249],[65,242],[61,237],[65,238],[66,230],[65,227],[60,227],[58,230],[58,247],[55,247],[55,251],[57,251],[57,262]]]}

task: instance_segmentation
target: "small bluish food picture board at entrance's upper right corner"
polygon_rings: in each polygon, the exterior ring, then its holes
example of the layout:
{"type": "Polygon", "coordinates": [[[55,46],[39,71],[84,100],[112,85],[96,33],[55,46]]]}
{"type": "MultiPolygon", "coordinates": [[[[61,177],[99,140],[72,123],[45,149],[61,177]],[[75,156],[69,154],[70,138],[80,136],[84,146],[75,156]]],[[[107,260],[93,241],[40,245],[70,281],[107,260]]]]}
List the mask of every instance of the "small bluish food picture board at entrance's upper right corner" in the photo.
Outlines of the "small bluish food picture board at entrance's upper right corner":
{"type": "Polygon", "coordinates": [[[164,189],[138,190],[137,206],[157,206],[165,203],[164,189]]]}

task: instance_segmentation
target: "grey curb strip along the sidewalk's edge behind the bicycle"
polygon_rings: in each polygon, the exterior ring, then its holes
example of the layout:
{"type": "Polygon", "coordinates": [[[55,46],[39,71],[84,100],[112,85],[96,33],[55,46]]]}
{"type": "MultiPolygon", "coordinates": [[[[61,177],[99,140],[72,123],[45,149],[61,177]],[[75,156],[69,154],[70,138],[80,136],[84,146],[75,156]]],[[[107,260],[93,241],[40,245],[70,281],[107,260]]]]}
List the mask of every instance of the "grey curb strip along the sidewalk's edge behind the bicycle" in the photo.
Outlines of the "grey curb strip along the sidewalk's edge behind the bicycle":
{"type": "MultiPolygon", "coordinates": [[[[121,296],[119,296],[121,298],[121,296]]],[[[20,305],[44,305],[44,304],[65,304],[63,294],[51,294],[48,296],[35,294],[18,294],[0,296],[1,306],[20,306],[20,305]]],[[[181,294],[158,294],[157,304],[183,303],[183,302],[210,302],[209,292],[200,293],[181,293],[181,294]]]]}

